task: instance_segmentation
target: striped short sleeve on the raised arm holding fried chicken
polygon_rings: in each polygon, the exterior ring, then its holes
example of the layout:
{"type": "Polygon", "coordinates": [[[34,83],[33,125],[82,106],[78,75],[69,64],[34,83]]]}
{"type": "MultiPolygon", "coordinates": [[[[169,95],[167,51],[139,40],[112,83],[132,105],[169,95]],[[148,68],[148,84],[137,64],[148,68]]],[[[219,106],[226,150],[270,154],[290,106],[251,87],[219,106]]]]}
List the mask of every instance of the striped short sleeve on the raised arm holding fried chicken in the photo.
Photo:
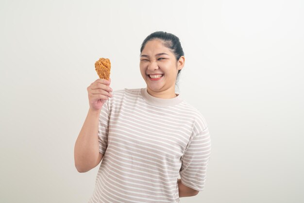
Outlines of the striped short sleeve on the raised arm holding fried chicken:
{"type": "Polygon", "coordinates": [[[99,141],[99,152],[104,154],[108,145],[108,134],[109,134],[109,100],[106,100],[102,105],[101,112],[99,115],[98,122],[98,141],[99,141]]]}

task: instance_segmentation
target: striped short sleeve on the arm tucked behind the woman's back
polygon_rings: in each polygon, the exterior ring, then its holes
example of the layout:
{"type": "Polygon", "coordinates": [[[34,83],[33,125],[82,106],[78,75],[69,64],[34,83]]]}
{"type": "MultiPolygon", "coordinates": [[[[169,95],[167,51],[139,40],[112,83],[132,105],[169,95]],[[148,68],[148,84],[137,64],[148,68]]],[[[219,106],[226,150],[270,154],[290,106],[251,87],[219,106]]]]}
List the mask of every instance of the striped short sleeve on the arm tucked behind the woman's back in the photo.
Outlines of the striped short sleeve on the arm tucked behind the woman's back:
{"type": "Polygon", "coordinates": [[[181,157],[180,176],[182,184],[203,191],[207,166],[211,154],[211,139],[208,128],[190,137],[184,155],[181,157]]]}

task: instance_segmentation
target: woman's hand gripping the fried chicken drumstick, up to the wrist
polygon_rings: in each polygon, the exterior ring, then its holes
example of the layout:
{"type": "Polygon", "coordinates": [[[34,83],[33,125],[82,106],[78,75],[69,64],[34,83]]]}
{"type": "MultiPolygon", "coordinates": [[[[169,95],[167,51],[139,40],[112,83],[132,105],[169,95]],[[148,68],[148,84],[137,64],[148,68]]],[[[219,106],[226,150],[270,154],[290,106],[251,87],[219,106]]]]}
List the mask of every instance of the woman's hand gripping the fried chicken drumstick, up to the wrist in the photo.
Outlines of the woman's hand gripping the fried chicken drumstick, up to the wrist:
{"type": "Polygon", "coordinates": [[[113,89],[109,86],[110,83],[111,78],[109,78],[109,80],[97,79],[86,88],[91,110],[100,111],[104,102],[108,100],[109,97],[113,97],[113,95],[110,93],[113,91],[113,89]]]}

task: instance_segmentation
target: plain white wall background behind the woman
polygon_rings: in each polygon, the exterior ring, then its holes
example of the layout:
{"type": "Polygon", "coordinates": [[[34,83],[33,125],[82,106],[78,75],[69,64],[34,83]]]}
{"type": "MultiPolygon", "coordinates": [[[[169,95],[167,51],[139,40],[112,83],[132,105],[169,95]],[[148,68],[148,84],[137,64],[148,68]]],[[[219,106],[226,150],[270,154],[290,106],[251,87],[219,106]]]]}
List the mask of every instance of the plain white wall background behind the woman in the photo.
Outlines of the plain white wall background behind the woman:
{"type": "Polygon", "coordinates": [[[155,31],[185,51],[177,92],[209,125],[205,188],[181,203],[304,201],[302,0],[1,0],[0,202],[86,203],[98,167],[74,144],[94,63],[111,87],[141,88],[140,45],[155,31]]]}

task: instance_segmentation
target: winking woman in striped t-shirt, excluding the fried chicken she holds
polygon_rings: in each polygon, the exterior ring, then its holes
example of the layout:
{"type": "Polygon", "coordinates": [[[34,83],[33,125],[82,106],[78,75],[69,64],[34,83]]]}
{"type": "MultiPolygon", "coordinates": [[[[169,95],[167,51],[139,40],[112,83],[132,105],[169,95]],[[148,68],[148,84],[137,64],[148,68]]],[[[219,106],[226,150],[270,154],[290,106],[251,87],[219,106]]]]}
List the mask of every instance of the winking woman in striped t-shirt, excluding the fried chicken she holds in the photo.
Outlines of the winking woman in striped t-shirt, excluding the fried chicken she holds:
{"type": "Polygon", "coordinates": [[[113,91],[111,79],[87,87],[75,166],[86,172],[102,159],[89,203],[175,203],[203,190],[211,140],[201,113],[175,93],[185,64],[179,38],[152,33],[140,53],[146,88],[113,91]]]}

